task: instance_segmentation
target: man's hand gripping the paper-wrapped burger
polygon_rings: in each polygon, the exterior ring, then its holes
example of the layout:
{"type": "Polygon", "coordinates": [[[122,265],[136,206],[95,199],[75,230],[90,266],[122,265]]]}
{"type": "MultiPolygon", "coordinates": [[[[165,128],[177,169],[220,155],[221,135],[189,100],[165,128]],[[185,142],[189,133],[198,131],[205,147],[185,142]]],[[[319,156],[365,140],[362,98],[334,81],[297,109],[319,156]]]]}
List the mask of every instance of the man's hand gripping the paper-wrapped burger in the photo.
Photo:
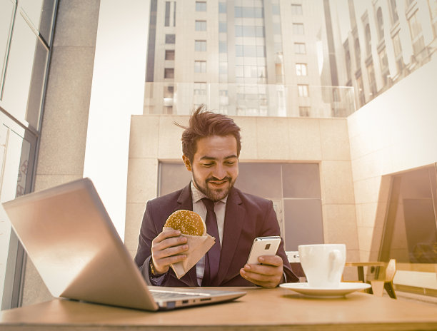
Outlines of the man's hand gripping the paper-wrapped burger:
{"type": "Polygon", "coordinates": [[[186,259],[186,254],[183,254],[189,249],[186,241],[179,230],[164,230],[152,240],[152,262],[156,273],[166,273],[172,263],[186,259]]]}

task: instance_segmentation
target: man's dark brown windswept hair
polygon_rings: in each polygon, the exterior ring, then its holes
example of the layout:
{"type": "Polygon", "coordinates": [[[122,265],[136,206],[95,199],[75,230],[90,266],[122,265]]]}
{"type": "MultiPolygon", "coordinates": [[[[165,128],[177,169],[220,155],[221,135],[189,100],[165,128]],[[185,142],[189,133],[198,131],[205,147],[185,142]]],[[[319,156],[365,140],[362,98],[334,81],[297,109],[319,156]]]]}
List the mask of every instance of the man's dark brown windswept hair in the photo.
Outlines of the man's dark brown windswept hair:
{"type": "Polygon", "coordinates": [[[220,113],[206,111],[206,106],[201,105],[193,113],[191,113],[189,126],[181,126],[176,123],[176,126],[184,128],[182,133],[182,153],[193,161],[194,154],[197,151],[197,141],[200,138],[209,136],[228,136],[232,135],[236,138],[237,157],[241,151],[240,128],[236,125],[232,118],[220,113]]]}

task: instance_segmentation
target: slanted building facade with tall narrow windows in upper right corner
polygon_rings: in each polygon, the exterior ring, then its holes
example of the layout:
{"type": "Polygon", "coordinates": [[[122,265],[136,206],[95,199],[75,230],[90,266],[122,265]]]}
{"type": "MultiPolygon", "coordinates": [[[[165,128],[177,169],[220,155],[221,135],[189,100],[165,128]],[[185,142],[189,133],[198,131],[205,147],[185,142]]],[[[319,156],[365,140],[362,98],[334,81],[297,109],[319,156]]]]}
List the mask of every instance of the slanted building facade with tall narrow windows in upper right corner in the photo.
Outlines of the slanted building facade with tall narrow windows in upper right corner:
{"type": "Polygon", "coordinates": [[[338,77],[353,86],[357,108],[437,56],[436,0],[343,1],[348,15],[339,2],[338,77]]]}

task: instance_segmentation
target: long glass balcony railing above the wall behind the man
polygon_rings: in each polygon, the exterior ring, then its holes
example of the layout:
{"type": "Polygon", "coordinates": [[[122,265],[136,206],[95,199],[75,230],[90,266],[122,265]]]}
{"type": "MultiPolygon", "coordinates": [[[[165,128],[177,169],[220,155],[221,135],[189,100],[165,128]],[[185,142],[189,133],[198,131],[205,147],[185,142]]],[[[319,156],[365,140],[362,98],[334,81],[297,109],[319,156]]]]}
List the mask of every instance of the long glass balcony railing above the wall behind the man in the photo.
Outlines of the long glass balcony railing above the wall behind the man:
{"type": "Polygon", "coordinates": [[[353,87],[243,83],[146,83],[144,114],[189,115],[204,103],[231,116],[347,117],[353,87]]]}

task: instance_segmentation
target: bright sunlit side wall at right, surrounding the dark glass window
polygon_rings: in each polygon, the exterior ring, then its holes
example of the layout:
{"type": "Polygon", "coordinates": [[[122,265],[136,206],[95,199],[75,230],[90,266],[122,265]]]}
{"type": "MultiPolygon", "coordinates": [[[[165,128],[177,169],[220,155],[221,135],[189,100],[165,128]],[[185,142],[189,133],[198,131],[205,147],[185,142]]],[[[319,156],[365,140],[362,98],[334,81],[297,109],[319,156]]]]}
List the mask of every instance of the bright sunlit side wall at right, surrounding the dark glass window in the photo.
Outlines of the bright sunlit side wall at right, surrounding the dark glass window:
{"type": "Polygon", "coordinates": [[[378,258],[390,178],[437,162],[437,59],[348,117],[361,260],[378,258]]]}

